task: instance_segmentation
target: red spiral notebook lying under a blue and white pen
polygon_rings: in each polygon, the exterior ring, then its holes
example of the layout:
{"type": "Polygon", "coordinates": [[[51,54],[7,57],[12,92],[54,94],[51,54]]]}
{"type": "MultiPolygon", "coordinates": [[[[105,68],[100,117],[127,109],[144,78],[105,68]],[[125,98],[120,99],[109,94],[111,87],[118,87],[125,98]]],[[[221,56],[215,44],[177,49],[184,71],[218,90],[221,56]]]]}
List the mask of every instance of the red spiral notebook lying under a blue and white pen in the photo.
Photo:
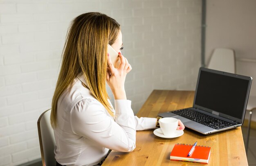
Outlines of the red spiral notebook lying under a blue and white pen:
{"type": "Polygon", "coordinates": [[[175,161],[199,162],[208,164],[211,147],[196,145],[191,156],[187,157],[193,145],[175,144],[170,154],[170,159],[175,161]]]}

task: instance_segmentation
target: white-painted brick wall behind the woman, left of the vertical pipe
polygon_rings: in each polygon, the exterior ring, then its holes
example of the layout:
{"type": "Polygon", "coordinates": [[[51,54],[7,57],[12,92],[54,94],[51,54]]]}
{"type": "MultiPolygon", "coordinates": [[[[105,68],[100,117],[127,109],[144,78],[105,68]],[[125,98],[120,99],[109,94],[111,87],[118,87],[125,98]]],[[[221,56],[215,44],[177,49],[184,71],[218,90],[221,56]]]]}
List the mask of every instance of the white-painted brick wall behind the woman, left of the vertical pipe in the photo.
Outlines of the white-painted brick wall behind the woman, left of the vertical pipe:
{"type": "Polygon", "coordinates": [[[51,105],[67,27],[88,11],[121,24],[135,114],[153,89],[195,88],[201,0],[1,0],[0,166],[40,158],[36,121],[51,105]]]}

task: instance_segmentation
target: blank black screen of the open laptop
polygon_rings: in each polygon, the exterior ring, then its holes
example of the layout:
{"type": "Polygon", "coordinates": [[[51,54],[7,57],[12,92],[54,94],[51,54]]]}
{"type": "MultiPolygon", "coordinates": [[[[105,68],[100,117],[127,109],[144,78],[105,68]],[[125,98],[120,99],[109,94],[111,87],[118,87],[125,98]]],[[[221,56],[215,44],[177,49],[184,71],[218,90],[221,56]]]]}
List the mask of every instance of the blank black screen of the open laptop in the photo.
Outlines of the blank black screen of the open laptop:
{"type": "Polygon", "coordinates": [[[241,119],[248,83],[246,79],[201,70],[195,105],[241,119]]]}

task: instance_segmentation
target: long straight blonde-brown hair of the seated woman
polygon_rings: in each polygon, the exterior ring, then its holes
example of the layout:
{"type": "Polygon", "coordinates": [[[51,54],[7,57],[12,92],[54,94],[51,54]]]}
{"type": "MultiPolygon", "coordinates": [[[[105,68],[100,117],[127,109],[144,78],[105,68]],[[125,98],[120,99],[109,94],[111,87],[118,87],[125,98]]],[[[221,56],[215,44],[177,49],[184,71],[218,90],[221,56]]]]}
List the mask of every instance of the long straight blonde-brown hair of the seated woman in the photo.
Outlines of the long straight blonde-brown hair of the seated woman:
{"type": "Polygon", "coordinates": [[[79,73],[83,74],[94,98],[114,116],[106,92],[107,46],[116,41],[119,31],[120,25],[102,13],[84,13],[74,18],[67,33],[61,70],[52,98],[53,128],[57,127],[58,98],[79,73]]]}

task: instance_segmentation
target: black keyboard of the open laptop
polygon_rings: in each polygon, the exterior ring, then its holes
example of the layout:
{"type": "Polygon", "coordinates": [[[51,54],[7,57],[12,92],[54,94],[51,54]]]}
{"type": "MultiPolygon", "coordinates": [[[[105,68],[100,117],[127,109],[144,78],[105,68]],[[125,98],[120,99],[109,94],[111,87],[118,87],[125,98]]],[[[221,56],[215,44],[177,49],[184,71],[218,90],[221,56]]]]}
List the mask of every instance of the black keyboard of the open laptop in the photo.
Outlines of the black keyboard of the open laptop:
{"type": "Polygon", "coordinates": [[[200,124],[204,124],[205,126],[208,126],[217,130],[232,126],[231,123],[225,122],[223,120],[219,120],[217,118],[213,118],[206,114],[202,114],[200,112],[194,111],[193,109],[180,109],[177,111],[172,111],[172,113],[183,116],[184,118],[188,118],[190,120],[193,120],[200,124]]]}

